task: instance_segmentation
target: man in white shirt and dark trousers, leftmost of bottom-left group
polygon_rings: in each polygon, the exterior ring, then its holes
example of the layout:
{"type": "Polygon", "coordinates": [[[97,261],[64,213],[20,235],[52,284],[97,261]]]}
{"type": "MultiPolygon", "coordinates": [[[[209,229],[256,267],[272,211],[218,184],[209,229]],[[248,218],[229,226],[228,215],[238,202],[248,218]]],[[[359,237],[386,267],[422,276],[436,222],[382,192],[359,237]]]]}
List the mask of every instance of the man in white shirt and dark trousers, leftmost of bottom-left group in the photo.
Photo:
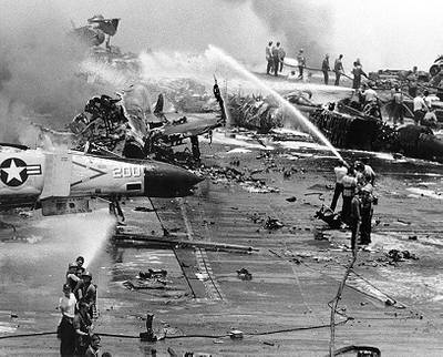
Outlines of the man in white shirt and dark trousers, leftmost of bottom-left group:
{"type": "Polygon", "coordinates": [[[60,338],[60,355],[72,357],[75,350],[75,330],[73,326],[76,299],[69,284],[63,285],[63,296],[60,298],[59,308],[62,319],[58,328],[60,338]]]}

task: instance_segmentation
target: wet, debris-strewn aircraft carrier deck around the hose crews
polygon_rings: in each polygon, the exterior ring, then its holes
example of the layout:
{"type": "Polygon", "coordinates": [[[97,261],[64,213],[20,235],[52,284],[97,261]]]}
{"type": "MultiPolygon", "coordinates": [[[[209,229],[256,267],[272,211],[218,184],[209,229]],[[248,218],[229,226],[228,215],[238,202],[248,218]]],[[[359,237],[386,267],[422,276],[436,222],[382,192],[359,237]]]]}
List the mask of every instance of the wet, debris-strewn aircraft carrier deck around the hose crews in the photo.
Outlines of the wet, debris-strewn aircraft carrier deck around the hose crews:
{"type": "MultiPolygon", "coordinates": [[[[313,215],[321,204],[330,203],[337,161],[326,151],[265,150],[254,140],[245,143],[241,150],[234,150],[239,146],[228,141],[204,144],[203,162],[251,173],[279,192],[256,193],[238,182],[207,178],[193,196],[152,200],[156,212],[150,200],[126,201],[123,232],[161,237],[164,227],[179,239],[258,251],[106,239],[92,261],[86,258],[99,285],[95,332],[102,335],[103,351],[150,356],[155,349],[157,356],[168,356],[172,348],[179,356],[186,351],[328,355],[328,302],[351,259],[350,232],[328,230],[313,215]],[[289,197],[295,198],[289,202],[289,197]],[[282,226],[266,228],[268,217],[282,226]],[[136,278],[148,268],[166,269],[166,284],[136,278]],[[241,268],[250,272],[251,279],[238,277],[241,268]],[[166,334],[163,340],[140,340],[147,313],[155,315],[156,334],[166,334]],[[244,337],[231,339],[228,333],[234,329],[244,337]]],[[[342,154],[347,160],[362,155],[342,154]]],[[[373,243],[359,252],[339,303],[336,349],[364,345],[379,348],[382,356],[441,356],[443,207],[437,193],[443,186],[442,166],[377,156],[371,164],[379,174],[380,196],[373,243]],[[392,262],[387,253],[394,248],[419,259],[392,262]]],[[[60,217],[14,218],[22,225],[21,238],[11,241],[2,234],[0,338],[22,337],[0,339],[0,355],[58,355],[53,332],[65,268],[99,241],[83,230],[103,234],[107,216],[102,207],[66,218],[68,225],[59,223],[60,217]]]]}

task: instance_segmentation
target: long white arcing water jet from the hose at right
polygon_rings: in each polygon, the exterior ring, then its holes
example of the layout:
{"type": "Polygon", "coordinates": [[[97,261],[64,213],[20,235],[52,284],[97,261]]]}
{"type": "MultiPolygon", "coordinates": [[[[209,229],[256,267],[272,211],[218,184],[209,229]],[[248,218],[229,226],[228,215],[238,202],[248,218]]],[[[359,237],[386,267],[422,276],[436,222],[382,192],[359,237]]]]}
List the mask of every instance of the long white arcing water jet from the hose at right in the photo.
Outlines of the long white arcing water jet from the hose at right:
{"type": "Polygon", "coordinates": [[[217,55],[220,60],[226,62],[230,68],[233,68],[238,73],[241,73],[256,85],[261,88],[264,91],[270,93],[284,108],[286,108],[289,112],[291,112],[300,122],[302,122],[310,132],[312,132],[320,141],[329,147],[329,150],[342,162],[344,162],[343,157],[337,151],[336,147],[326,139],[326,136],[318,130],[316,125],[313,125],[297,108],[295,108],[291,103],[289,103],[285,98],[282,98],[279,93],[277,93],[269,85],[265,84],[260,81],[256,75],[250,73],[244,65],[237,62],[233,57],[225,53],[223,50],[218,49],[215,45],[209,44],[209,51],[217,55]]]}

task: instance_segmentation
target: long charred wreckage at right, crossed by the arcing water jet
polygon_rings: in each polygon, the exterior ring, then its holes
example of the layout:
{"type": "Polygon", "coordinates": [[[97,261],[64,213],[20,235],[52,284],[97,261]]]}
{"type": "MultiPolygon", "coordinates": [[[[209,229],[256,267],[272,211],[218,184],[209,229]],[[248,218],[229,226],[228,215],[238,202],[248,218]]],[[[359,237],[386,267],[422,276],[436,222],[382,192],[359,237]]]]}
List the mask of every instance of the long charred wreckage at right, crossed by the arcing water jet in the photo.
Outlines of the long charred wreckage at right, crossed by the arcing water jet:
{"type": "MultiPolygon", "coordinates": [[[[363,112],[352,108],[350,99],[321,106],[310,102],[309,94],[292,92],[285,96],[309,114],[309,120],[336,147],[401,153],[443,162],[443,141],[429,126],[393,128],[383,122],[377,109],[363,112]]],[[[285,112],[271,98],[234,95],[228,108],[236,124],[262,133],[285,124],[285,112]]]]}

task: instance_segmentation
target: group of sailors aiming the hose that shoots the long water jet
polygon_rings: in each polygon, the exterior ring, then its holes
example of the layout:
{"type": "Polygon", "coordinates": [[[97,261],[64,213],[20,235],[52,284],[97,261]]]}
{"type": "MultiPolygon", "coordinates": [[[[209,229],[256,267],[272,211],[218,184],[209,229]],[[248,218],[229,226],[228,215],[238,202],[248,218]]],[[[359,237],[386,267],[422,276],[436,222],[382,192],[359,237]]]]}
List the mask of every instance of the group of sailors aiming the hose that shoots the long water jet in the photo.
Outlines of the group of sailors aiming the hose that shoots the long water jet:
{"type": "Polygon", "coordinates": [[[351,227],[351,248],[356,252],[357,245],[371,243],[371,221],[377,202],[373,195],[375,173],[367,159],[356,161],[353,165],[340,162],[334,173],[336,188],[330,208],[336,211],[341,195],[341,221],[351,227]]]}

